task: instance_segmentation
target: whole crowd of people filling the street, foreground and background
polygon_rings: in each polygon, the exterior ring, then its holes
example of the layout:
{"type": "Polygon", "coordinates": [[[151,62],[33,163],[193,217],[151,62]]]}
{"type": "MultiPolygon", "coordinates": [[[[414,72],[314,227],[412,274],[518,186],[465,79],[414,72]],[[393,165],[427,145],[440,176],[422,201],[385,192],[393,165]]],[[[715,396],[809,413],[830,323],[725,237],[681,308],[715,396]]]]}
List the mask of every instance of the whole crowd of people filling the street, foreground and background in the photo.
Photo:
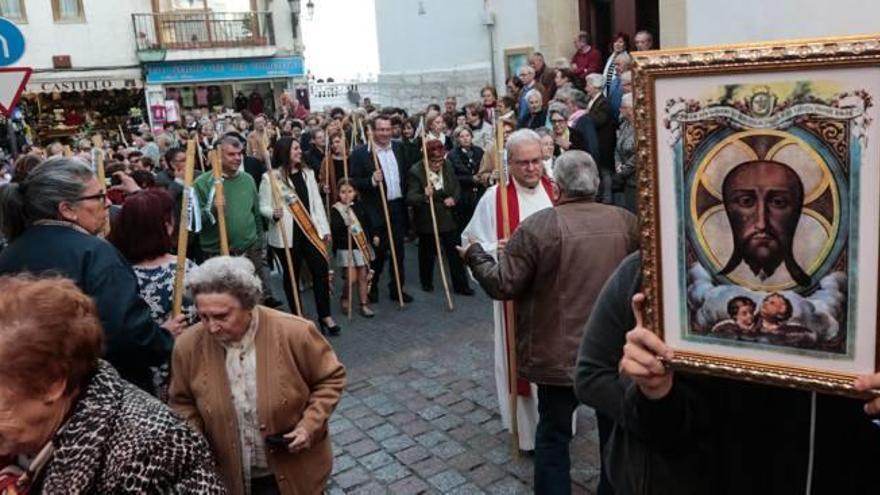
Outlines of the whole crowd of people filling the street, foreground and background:
{"type": "Polygon", "coordinates": [[[574,48],[462,105],[287,98],[273,116],[204,108],[25,150],[0,178],[0,492],[321,493],[346,383],[334,308],[377,316],[383,277],[411,303],[417,243],[423,291],[448,264],[452,292],[476,280],[497,301],[499,410],[535,452],[537,493],[570,493],[578,404],[597,412],[602,495],[866,493],[880,433],[860,401],[658,359],[672,351],[640,316],[630,38],[604,58],[588,33],[574,48]]]}

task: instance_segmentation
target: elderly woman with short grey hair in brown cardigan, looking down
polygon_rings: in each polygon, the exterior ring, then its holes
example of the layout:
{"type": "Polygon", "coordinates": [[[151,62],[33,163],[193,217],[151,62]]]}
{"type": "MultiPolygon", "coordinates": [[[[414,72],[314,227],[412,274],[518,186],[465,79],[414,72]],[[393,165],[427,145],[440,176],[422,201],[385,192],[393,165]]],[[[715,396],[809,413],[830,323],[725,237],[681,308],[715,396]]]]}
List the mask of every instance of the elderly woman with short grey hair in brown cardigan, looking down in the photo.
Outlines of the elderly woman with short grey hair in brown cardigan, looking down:
{"type": "Polygon", "coordinates": [[[207,437],[229,493],[321,493],[345,386],[333,349],[310,321],[257,305],[245,258],[206,261],[187,288],[201,323],[175,343],[169,405],[207,437]]]}

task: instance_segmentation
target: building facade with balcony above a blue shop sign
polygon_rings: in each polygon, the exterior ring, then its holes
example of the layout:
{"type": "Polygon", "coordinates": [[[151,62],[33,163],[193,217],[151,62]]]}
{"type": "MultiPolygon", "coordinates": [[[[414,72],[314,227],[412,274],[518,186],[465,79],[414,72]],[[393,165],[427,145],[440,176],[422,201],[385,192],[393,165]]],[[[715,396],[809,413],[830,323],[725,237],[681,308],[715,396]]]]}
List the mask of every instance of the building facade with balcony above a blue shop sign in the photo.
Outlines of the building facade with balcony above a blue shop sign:
{"type": "Polygon", "coordinates": [[[151,125],[192,109],[274,114],[304,82],[299,16],[299,0],[153,0],[132,18],[151,125]]]}

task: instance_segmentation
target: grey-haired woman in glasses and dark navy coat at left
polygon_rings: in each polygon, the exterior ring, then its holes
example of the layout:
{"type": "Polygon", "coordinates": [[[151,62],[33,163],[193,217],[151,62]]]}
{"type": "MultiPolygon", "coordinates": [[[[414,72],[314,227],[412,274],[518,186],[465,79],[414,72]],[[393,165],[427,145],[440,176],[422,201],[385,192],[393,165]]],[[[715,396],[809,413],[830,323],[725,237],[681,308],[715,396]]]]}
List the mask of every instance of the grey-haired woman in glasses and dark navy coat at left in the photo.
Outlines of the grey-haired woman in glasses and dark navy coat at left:
{"type": "MultiPolygon", "coordinates": [[[[126,187],[136,189],[130,177],[126,187]]],[[[104,357],[126,380],[153,390],[153,366],[171,357],[184,316],[157,325],[138,293],[131,265],[98,237],[109,202],[95,174],[75,159],[46,160],[20,184],[0,187],[0,223],[9,247],[0,275],[51,272],[67,277],[92,299],[104,328],[104,357]]]]}

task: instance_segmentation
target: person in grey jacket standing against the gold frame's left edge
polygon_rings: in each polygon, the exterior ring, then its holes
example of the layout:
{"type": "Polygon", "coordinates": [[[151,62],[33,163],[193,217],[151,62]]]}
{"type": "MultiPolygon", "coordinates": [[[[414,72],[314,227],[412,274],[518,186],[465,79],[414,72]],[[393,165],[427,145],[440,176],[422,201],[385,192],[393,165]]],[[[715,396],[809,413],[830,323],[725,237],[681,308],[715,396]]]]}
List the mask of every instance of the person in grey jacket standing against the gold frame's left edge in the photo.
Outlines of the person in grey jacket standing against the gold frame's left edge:
{"type": "Polygon", "coordinates": [[[636,134],[633,128],[632,93],[620,99],[620,126],[614,149],[614,175],[611,176],[612,202],[636,211],[636,134]]]}

